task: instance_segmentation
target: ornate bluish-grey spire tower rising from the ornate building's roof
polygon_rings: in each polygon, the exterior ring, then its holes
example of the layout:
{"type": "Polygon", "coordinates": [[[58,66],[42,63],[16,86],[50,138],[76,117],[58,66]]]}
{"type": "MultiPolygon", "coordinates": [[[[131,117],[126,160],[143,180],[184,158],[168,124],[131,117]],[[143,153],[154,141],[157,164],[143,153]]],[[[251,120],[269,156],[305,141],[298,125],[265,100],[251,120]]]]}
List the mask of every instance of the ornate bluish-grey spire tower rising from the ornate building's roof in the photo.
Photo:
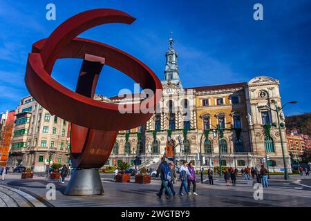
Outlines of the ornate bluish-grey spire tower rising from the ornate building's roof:
{"type": "Polygon", "coordinates": [[[173,84],[182,89],[182,84],[179,79],[179,70],[177,64],[177,52],[174,49],[174,40],[172,37],[169,38],[169,50],[165,57],[167,58],[167,64],[164,70],[164,79],[161,81],[162,85],[173,84]]]}

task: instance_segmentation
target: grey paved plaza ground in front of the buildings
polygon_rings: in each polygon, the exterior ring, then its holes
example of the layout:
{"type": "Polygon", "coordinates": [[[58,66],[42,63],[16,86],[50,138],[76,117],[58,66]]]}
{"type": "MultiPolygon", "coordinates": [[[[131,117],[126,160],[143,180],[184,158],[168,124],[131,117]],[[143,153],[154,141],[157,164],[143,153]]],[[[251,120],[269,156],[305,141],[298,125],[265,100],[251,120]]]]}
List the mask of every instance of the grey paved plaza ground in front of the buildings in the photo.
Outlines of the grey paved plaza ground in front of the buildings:
{"type": "MultiPolygon", "coordinates": [[[[5,181],[0,182],[0,206],[33,207],[33,206],[311,206],[311,180],[309,177],[292,175],[289,181],[281,176],[270,179],[270,187],[263,190],[263,200],[254,200],[253,181],[238,177],[237,186],[225,186],[223,177],[215,177],[214,186],[197,183],[199,195],[176,195],[167,200],[156,193],[160,189],[160,180],[153,179],[151,184],[135,184],[134,177],[130,183],[115,183],[112,175],[102,175],[104,195],[68,196],[64,195],[66,184],[48,180],[44,175],[35,175],[33,180],[21,180],[20,174],[8,174],[5,181]],[[55,200],[47,200],[46,185],[56,186],[55,200]]],[[[255,182],[254,182],[255,183],[255,182]]],[[[176,192],[180,182],[175,185],[176,192]]]]}

